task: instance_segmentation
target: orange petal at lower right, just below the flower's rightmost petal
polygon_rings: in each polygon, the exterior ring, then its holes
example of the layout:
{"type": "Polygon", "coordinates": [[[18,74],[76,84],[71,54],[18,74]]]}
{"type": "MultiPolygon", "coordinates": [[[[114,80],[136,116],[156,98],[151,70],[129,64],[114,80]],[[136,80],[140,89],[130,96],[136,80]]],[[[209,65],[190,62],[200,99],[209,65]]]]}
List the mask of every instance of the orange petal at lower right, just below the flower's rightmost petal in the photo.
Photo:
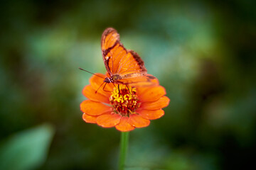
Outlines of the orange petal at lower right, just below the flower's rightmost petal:
{"type": "Polygon", "coordinates": [[[139,113],[139,115],[142,116],[142,118],[149,119],[149,120],[154,120],[157,118],[161,118],[161,116],[164,115],[164,111],[159,109],[159,110],[146,110],[146,109],[139,109],[136,111],[136,113],[139,113]]]}

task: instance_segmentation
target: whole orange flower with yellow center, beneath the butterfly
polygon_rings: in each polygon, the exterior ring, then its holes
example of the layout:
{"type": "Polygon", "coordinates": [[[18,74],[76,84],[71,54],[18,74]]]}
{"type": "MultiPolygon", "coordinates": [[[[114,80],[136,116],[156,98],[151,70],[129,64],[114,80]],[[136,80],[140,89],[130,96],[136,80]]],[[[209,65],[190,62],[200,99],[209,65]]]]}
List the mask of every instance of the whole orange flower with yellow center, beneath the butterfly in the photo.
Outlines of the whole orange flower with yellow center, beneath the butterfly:
{"type": "Polygon", "coordinates": [[[169,98],[164,96],[166,91],[158,82],[156,86],[129,86],[129,89],[122,84],[119,89],[117,84],[106,84],[103,89],[100,87],[103,82],[100,77],[93,75],[90,85],[82,90],[88,100],[82,101],[80,109],[83,112],[82,119],[87,123],[127,132],[146,127],[150,120],[161,118],[164,115],[161,108],[169,105],[169,98]]]}

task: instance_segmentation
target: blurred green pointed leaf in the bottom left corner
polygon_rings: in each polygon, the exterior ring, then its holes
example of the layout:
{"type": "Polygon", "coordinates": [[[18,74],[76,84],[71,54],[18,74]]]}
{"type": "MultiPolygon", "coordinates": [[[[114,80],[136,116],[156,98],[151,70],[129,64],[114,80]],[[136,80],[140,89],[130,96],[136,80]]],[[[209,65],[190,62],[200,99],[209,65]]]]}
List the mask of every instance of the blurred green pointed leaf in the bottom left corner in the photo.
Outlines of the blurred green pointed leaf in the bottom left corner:
{"type": "Polygon", "coordinates": [[[0,145],[0,169],[35,169],[46,160],[53,127],[43,124],[11,135],[0,145]]]}

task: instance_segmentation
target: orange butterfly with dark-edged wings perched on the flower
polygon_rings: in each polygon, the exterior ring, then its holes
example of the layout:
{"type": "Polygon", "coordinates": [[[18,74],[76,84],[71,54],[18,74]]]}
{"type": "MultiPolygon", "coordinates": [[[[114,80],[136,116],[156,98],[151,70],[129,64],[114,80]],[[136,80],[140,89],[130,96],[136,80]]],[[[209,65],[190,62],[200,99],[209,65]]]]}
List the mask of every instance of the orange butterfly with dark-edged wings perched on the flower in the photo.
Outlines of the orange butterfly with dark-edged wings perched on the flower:
{"type": "Polygon", "coordinates": [[[117,30],[107,28],[102,33],[101,47],[103,61],[110,75],[104,80],[106,84],[129,84],[129,86],[156,84],[156,78],[146,73],[141,57],[136,52],[124,48],[117,30]]]}

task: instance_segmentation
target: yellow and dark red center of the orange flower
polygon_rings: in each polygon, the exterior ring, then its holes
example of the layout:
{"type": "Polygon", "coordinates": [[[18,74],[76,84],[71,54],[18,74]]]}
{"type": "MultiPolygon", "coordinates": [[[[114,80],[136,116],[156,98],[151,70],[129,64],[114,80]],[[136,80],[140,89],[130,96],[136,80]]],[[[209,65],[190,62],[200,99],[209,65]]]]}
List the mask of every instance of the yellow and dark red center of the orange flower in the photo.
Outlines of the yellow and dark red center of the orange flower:
{"type": "Polygon", "coordinates": [[[140,102],[136,95],[136,88],[119,85],[114,88],[110,96],[110,103],[118,114],[129,116],[139,108],[140,102]]]}

